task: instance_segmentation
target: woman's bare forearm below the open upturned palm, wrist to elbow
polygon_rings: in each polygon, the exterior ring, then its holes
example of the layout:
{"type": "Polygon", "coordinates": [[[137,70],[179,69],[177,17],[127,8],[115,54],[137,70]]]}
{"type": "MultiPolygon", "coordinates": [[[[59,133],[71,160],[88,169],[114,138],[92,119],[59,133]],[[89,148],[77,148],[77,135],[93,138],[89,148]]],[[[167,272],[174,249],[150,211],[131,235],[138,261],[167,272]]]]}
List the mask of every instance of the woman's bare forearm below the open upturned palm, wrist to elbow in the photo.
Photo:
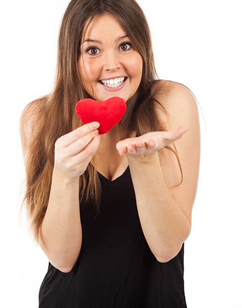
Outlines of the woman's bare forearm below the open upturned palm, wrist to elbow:
{"type": "Polygon", "coordinates": [[[166,186],[158,154],[128,161],[144,236],[157,260],[167,262],[189,236],[189,222],[166,186]]]}

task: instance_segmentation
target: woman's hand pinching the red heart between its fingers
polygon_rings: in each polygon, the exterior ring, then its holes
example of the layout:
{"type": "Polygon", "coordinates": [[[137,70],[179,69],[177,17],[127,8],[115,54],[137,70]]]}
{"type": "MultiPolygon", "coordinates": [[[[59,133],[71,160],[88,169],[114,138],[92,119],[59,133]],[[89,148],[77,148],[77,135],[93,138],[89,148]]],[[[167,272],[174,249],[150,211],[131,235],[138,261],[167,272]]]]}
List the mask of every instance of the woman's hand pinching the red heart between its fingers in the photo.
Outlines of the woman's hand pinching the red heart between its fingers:
{"type": "Polygon", "coordinates": [[[82,175],[95,154],[99,143],[97,127],[91,122],[61,136],[55,143],[55,165],[64,178],[79,178],[82,175]],[[97,131],[96,131],[97,130],[97,131]]]}

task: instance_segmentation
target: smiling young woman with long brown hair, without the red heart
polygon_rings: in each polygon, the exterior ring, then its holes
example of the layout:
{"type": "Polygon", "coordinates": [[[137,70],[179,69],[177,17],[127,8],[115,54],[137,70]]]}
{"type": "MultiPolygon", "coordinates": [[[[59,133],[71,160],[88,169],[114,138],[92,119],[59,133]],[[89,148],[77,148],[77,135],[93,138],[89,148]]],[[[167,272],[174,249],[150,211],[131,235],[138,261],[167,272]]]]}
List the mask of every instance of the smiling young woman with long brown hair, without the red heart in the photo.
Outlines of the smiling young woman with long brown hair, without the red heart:
{"type": "Polygon", "coordinates": [[[185,86],[157,79],[134,0],[72,0],[58,44],[54,90],[20,122],[23,204],[49,259],[39,307],[186,307],[197,102],[185,86]],[[103,135],[99,123],[81,123],[77,101],[114,96],[126,102],[120,123],[103,135]]]}

